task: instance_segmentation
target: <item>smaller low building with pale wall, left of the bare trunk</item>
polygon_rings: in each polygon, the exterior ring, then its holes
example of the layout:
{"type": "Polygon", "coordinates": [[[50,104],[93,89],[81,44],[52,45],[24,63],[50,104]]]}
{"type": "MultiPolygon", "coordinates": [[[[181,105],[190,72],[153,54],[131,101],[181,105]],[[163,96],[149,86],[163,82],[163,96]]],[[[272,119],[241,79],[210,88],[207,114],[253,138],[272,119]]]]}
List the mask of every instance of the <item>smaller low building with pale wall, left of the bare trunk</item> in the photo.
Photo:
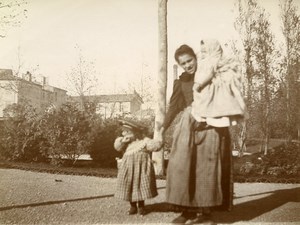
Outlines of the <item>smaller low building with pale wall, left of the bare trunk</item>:
{"type": "Polygon", "coordinates": [[[80,104],[91,102],[97,105],[97,113],[103,118],[136,114],[141,110],[143,100],[134,91],[132,94],[91,95],[91,96],[69,96],[69,102],[80,104]]]}

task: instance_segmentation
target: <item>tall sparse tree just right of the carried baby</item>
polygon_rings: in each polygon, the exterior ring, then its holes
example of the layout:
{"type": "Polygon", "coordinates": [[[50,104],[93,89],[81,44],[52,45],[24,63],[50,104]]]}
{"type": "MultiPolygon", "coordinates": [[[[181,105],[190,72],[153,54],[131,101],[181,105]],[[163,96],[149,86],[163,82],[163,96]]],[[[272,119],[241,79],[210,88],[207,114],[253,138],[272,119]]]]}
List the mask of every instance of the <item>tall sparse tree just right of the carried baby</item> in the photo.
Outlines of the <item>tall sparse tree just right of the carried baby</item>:
{"type": "Polygon", "coordinates": [[[269,15],[256,0],[237,0],[238,16],[235,28],[244,47],[244,73],[247,81],[246,102],[250,119],[246,129],[258,129],[261,133],[261,151],[267,154],[270,139],[272,102],[276,91],[275,61],[279,57],[270,29],[269,15]],[[259,114],[257,112],[260,112],[259,114]]]}

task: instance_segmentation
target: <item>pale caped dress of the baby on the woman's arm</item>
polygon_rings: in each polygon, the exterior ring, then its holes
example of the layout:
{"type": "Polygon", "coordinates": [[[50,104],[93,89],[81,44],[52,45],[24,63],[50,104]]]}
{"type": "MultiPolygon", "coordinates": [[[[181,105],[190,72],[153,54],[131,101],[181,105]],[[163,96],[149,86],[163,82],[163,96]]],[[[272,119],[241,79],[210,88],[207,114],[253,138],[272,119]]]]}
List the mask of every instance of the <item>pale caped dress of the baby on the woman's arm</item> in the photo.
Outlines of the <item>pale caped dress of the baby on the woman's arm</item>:
{"type": "Polygon", "coordinates": [[[192,116],[199,122],[206,121],[216,127],[236,125],[246,116],[246,105],[241,93],[241,71],[237,61],[223,59],[214,68],[209,61],[203,60],[195,75],[195,82],[201,73],[213,73],[213,76],[202,90],[194,88],[192,116]]]}

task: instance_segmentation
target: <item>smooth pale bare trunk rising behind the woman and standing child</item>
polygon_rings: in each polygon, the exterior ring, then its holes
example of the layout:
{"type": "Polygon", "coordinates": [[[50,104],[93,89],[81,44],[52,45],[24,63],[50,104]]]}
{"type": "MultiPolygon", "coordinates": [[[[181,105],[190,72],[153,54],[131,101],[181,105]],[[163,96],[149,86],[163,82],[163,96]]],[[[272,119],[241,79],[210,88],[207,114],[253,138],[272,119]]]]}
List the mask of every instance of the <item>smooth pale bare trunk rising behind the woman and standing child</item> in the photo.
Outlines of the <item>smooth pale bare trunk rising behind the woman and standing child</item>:
{"type": "MultiPolygon", "coordinates": [[[[155,115],[154,138],[165,119],[166,114],[166,92],[167,92],[167,64],[168,64],[168,42],[167,42],[167,0],[158,0],[158,92],[157,92],[157,111],[155,115]]],[[[164,154],[163,149],[152,154],[156,175],[164,174],[164,154]]]]}

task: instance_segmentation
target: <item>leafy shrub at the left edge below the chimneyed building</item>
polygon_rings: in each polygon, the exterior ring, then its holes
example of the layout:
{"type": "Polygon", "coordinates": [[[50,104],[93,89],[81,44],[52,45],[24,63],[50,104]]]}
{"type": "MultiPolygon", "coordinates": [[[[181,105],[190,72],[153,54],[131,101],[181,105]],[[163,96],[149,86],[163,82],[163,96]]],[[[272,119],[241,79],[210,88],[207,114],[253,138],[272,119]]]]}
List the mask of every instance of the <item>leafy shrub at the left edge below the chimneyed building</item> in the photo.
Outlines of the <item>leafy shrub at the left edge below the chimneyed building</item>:
{"type": "Polygon", "coordinates": [[[41,161],[45,155],[40,149],[40,117],[28,103],[12,104],[4,110],[2,122],[1,158],[18,161],[41,161]]]}

